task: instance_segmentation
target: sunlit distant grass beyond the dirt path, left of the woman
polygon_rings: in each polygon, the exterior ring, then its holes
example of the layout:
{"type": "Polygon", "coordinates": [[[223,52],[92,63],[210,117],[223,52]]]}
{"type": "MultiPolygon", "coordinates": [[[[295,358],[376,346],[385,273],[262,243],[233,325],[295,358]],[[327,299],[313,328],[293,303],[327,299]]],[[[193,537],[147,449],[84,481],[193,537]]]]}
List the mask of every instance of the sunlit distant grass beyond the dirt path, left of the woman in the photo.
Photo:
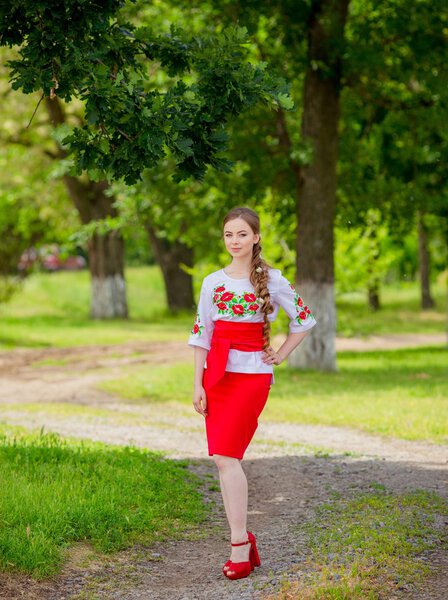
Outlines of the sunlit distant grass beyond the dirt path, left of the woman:
{"type": "Polygon", "coordinates": [[[120,344],[188,336],[192,314],[168,314],[158,268],[130,268],[126,276],[132,318],[93,321],[89,318],[87,272],[32,275],[9,304],[0,305],[0,348],[120,344]]]}

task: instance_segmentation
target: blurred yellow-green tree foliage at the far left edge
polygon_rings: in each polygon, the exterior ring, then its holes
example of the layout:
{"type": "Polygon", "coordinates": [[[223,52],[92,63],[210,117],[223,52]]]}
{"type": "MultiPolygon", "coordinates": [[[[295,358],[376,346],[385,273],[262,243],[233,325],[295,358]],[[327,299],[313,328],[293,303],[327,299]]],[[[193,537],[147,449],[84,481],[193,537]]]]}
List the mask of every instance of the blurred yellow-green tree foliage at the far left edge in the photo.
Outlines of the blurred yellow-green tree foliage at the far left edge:
{"type": "MultiPolygon", "coordinates": [[[[4,53],[1,52],[0,58],[4,53]]],[[[34,104],[17,102],[0,67],[0,302],[20,288],[26,269],[22,254],[35,246],[68,246],[77,225],[63,185],[52,178],[53,161],[46,154],[53,141],[39,123],[23,133],[34,104]]]]}

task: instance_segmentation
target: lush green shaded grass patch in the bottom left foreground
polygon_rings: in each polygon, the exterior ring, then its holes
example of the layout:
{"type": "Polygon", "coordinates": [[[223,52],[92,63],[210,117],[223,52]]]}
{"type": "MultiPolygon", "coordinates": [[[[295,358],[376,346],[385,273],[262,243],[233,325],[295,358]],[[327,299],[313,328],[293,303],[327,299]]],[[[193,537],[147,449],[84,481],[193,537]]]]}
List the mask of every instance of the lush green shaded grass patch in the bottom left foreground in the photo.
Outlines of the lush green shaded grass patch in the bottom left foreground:
{"type": "Polygon", "coordinates": [[[99,552],[176,537],[206,513],[186,463],[132,447],[0,426],[0,569],[57,573],[70,544],[99,552]]]}

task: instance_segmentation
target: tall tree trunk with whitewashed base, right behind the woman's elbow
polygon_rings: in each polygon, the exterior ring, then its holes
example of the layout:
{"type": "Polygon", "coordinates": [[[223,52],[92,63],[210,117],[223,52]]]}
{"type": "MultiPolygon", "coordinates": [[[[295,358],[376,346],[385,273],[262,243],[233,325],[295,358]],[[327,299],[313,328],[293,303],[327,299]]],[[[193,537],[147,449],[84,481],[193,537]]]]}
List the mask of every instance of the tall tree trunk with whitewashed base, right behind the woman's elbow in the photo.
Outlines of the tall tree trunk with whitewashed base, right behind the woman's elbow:
{"type": "Polygon", "coordinates": [[[298,289],[317,326],[290,355],[294,367],[336,370],[334,219],[341,55],[349,0],[314,0],[308,29],[302,137],[313,150],[297,177],[298,289]]]}

